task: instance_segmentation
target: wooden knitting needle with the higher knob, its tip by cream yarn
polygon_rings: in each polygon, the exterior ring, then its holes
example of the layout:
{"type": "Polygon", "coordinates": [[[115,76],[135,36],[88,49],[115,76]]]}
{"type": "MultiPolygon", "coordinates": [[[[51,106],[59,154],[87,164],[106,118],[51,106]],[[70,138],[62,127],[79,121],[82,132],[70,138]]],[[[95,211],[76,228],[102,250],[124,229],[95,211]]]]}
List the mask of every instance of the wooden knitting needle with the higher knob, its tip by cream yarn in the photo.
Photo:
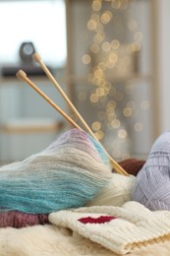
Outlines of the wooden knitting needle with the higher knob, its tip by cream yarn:
{"type": "MultiPolygon", "coordinates": [[[[96,136],[94,135],[94,133],[91,131],[91,129],[89,128],[89,126],[86,124],[85,119],[82,117],[82,115],[79,113],[79,111],[77,110],[77,108],[74,106],[74,104],[72,103],[72,101],[69,99],[69,97],[64,93],[64,91],[62,90],[62,88],[60,87],[60,85],[57,83],[57,81],[55,80],[55,78],[53,77],[53,75],[50,73],[49,69],[46,67],[46,65],[43,63],[42,58],[40,57],[40,55],[35,52],[32,55],[32,58],[34,61],[36,61],[37,63],[39,63],[40,67],[42,68],[42,70],[45,72],[46,76],[49,78],[49,80],[53,83],[53,85],[55,86],[55,88],[59,91],[59,93],[61,94],[61,96],[64,97],[64,99],[66,100],[66,102],[69,104],[69,106],[72,108],[72,110],[76,113],[77,117],[81,120],[81,122],[83,123],[83,125],[85,126],[86,131],[92,136],[92,138],[94,138],[95,141],[97,141],[98,143],[100,143],[98,141],[98,139],[96,138],[96,136]]],[[[104,149],[105,150],[105,149],[104,149]]],[[[106,151],[105,151],[106,152],[106,151]]],[[[106,152],[107,157],[109,158],[112,166],[115,168],[115,170],[118,173],[124,174],[124,175],[129,175],[125,169],[122,168],[122,166],[120,164],[118,164],[117,161],[113,160],[108,153],[106,152]]]]}

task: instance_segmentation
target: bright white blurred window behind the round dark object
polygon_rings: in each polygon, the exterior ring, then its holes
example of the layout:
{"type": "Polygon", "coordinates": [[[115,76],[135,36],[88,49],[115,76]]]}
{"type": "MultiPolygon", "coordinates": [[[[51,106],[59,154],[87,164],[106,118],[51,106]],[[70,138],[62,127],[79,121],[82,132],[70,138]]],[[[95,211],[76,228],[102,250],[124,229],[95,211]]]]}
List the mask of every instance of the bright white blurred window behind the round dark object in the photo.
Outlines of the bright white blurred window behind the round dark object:
{"type": "Polygon", "coordinates": [[[66,61],[64,0],[0,1],[0,65],[20,60],[20,46],[31,41],[46,64],[66,61]]]}

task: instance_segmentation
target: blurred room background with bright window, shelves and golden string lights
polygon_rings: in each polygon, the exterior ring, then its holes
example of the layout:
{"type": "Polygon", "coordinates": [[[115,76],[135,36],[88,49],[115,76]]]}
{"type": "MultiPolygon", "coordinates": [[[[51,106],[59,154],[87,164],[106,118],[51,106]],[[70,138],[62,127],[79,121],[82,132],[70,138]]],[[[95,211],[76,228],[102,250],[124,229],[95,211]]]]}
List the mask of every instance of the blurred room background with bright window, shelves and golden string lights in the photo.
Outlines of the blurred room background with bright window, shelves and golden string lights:
{"type": "Polygon", "coordinates": [[[169,10],[168,0],[0,0],[0,162],[72,128],[19,69],[81,125],[35,51],[115,160],[146,159],[170,128],[169,10]]]}

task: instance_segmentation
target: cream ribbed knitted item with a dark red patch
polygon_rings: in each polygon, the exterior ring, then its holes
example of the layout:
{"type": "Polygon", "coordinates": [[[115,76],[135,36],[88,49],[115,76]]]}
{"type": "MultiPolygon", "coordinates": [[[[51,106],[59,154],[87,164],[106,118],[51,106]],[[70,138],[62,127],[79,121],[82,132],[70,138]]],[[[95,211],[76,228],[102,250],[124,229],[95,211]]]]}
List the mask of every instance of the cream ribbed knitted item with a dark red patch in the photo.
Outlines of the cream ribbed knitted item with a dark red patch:
{"type": "Polygon", "coordinates": [[[59,211],[50,214],[49,221],[69,227],[118,254],[170,240],[170,212],[150,212],[137,202],[127,202],[122,207],[94,206],[59,211]],[[99,223],[98,220],[107,217],[116,219],[99,223]],[[85,218],[96,223],[82,223],[85,218]]]}

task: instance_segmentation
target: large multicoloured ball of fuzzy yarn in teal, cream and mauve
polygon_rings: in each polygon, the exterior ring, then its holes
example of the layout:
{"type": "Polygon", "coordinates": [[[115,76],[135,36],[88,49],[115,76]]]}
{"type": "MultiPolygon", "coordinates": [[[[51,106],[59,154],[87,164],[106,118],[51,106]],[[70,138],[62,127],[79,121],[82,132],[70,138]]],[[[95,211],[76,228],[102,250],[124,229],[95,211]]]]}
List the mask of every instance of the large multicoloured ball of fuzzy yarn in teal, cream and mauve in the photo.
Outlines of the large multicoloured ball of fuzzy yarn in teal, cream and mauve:
{"type": "Polygon", "coordinates": [[[41,153],[0,168],[0,212],[48,214],[78,208],[110,178],[101,145],[84,131],[72,129],[41,153]]]}

